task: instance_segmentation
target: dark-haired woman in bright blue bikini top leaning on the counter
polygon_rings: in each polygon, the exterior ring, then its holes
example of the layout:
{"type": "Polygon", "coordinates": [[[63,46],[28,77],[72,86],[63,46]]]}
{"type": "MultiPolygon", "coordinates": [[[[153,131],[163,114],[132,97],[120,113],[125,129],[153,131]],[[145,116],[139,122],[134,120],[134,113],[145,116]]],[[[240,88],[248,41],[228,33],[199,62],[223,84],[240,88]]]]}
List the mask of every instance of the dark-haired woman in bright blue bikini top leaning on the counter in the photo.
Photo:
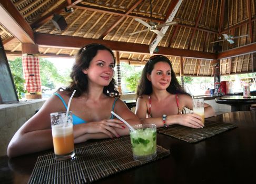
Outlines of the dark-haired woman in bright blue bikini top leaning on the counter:
{"type": "Polygon", "coordinates": [[[53,148],[50,114],[66,111],[71,94],[74,142],[88,139],[119,138],[129,128],[111,116],[111,110],[131,125],[141,124],[139,118],[119,99],[114,76],[115,57],[101,44],[81,48],[71,72],[71,83],[60,88],[41,109],[19,128],[9,142],[7,155],[15,157],[53,148]]]}

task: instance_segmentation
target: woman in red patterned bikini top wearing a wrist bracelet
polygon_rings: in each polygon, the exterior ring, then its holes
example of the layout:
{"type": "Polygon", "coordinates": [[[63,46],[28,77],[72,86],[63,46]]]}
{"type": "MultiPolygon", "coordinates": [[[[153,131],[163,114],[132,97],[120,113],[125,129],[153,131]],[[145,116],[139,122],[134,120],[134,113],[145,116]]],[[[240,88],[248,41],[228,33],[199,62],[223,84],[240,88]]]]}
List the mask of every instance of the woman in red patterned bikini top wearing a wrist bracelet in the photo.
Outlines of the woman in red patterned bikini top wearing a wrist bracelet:
{"type": "MultiPolygon", "coordinates": [[[[152,56],[142,71],[137,87],[135,114],[143,123],[153,123],[157,127],[180,124],[203,128],[201,116],[183,114],[184,107],[192,110],[193,100],[176,79],[170,60],[162,55],[152,56]]],[[[204,103],[205,118],[213,115],[214,109],[204,103]]]]}

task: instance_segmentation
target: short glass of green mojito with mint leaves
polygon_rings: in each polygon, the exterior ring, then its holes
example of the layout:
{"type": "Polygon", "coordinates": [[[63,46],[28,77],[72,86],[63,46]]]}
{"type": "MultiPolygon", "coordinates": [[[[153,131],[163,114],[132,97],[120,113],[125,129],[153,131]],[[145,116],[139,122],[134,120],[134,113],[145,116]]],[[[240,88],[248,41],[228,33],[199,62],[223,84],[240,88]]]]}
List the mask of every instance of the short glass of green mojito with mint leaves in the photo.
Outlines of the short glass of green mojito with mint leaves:
{"type": "Polygon", "coordinates": [[[130,130],[133,158],[149,161],[156,157],[156,125],[139,124],[130,130]]]}

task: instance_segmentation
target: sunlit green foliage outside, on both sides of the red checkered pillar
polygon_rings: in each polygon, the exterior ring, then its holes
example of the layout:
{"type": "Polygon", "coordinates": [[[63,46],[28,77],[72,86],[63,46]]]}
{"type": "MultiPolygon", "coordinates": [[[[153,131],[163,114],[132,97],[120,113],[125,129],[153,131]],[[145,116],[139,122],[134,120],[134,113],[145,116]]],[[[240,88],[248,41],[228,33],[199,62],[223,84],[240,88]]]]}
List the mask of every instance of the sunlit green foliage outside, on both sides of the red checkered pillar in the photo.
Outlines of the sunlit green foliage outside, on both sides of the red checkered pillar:
{"type": "MultiPolygon", "coordinates": [[[[26,93],[24,88],[25,79],[23,78],[22,58],[17,57],[15,60],[8,60],[13,75],[14,84],[17,90],[18,98],[22,98],[22,94],[26,93]]],[[[40,76],[42,86],[50,89],[56,87],[67,86],[70,81],[70,71],[65,71],[60,75],[54,64],[47,59],[40,58],[40,76]]]]}

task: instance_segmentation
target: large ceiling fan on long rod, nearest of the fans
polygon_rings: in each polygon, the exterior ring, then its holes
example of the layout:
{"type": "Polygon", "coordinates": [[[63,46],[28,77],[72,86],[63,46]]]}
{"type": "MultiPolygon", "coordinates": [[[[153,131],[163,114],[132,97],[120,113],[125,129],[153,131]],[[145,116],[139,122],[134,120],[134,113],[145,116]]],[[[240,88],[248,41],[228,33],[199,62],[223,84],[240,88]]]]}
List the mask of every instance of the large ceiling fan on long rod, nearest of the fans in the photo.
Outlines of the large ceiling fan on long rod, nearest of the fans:
{"type": "Polygon", "coordinates": [[[177,24],[177,22],[175,22],[175,21],[167,22],[167,23],[160,24],[160,25],[157,25],[157,23],[152,22],[152,2],[151,2],[151,0],[150,0],[150,18],[151,18],[151,21],[149,23],[146,23],[146,22],[142,21],[142,19],[140,19],[140,18],[135,18],[135,21],[143,24],[147,28],[143,29],[143,30],[139,30],[139,31],[134,32],[134,33],[130,33],[130,35],[134,35],[134,34],[137,34],[137,33],[141,33],[141,32],[145,32],[145,31],[150,30],[151,32],[154,32],[159,36],[164,36],[164,34],[160,30],[157,30],[157,29],[159,29],[161,27],[164,27],[164,26],[170,26],[170,25],[177,24]]]}

